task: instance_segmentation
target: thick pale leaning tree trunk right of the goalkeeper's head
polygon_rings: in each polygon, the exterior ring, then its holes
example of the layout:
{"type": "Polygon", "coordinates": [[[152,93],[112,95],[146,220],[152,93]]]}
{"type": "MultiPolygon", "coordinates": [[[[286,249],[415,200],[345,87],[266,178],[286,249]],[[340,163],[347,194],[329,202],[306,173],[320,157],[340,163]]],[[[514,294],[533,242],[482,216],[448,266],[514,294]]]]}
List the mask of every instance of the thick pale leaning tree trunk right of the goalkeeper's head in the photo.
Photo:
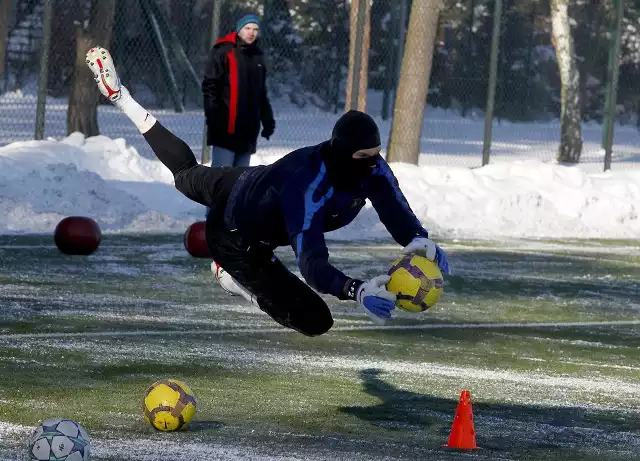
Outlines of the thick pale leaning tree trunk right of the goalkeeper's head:
{"type": "Polygon", "coordinates": [[[393,110],[387,161],[418,164],[420,136],[442,0],[413,0],[393,110]]]}

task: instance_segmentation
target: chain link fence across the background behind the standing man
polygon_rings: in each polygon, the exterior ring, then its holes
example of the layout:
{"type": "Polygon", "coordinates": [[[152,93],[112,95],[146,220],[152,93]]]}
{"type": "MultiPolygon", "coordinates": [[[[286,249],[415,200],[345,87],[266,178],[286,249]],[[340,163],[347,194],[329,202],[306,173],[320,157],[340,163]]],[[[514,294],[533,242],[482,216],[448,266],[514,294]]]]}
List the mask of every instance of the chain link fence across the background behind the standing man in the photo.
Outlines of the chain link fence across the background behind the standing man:
{"type": "MultiPolygon", "coordinates": [[[[574,8],[574,17],[579,17],[574,39],[576,54],[584,56],[580,59],[586,122],[581,161],[601,163],[603,69],[608,50],[603,37],[610,11],[592,3],[574,8]]],[[[15,0],[7,16],[5,40],[0,43],[4,49],[0,144],[34,137],[43,4],[44,0],[15,0]]],[[[61,139],[67,134],[76,34],[89,20],[91,4],[53,2],[45,138],[61,139]]],[[[214,0],[117,0],[115,4],[112,37],[103,45],[112,50],[123,84],[200,156],[204,115],[199,85],[211,46],[214,0]],[[183,53],[188,64],[172,58],[176,52],[183,53]],[[166,62],[164,53],[170,57],[166,62]]],[[[423,163],[481,164],[493,5],[488,0],[445,2],[422,130],[423,163]]],[[[491,161],[552,160],[560,138],[560,82],[549,6],[524,0],[505,0],[504,5],[491,161]]],[[[220,8],[219,35],[233,30],[246,10],[262,17],[260,46],[267,60],[276,118],[275,135],[269,141],[260,138],[258,151],[275,156],[323,141],[347,102],[350,2],[226,0],[220,8]]],[[[367,111],[378,120],[384,142],[391,130],[410,11],[410,0],[371,2],[367,111]]],[[[635,11],[625,14],[634,20],[635,11]]],[[[616,142],[637,144],[640,94],[633,90],[633,82],[640,71],[633,59],[626,59],[633,47],[623,47],[622,53],[619,91],[625,103],[618,114],[623,125],[616,128],[616,142]]],[[[124,137],[142,155],[152,156],[133,124],[105,100],[98,109],[98,124],[101,134],[124,137]]]]}

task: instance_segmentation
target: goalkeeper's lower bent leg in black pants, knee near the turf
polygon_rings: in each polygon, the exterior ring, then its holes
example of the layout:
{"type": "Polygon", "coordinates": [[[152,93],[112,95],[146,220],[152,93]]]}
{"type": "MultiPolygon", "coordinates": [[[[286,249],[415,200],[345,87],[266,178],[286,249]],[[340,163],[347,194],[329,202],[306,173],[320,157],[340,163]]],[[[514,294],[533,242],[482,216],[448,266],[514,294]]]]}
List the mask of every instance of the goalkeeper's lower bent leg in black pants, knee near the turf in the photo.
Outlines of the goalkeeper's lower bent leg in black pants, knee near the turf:
{"type": "Polygon", "coordinates": [[[221,226],[213,213],[207,218],[207,245],[216,263],[232,277],[230,281],[247,295],[237,294],[279,324],[307,336],[321,335],[333,326],[324,300],[292,274],[270,247],[249,246],[237,233],[221,226]]]}

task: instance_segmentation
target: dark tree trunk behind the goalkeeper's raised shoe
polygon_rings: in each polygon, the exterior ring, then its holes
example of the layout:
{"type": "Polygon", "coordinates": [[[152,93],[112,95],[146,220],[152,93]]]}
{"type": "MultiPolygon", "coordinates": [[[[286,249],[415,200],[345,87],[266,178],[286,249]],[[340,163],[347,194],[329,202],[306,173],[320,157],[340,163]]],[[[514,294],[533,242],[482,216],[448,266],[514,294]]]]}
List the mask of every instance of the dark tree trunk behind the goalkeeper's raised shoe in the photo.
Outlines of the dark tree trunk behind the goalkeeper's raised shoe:
{"type": "Polygon", "coordinates": [[[85,136],[100,134],[98,129],[98,99],[100,93],[93,75],[85,63],[85,54],[92,46],[109,47],[113,32],[116,0],[93,0],[89,27],[76,26],[76,64],[72,77],[67,112],[67,134],[80,131],[85,136]]]}

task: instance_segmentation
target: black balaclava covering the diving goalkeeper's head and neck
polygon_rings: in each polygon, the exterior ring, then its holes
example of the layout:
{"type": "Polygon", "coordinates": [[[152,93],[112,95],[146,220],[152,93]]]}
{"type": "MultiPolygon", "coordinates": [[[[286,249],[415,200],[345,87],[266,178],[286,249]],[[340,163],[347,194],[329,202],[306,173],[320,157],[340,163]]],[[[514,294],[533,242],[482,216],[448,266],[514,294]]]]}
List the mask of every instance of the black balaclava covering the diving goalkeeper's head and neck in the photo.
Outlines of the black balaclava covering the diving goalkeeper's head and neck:
{"type": "Polygon", "coordinates": [[[336,189],[354,189],[371,175],[380,154],[355,159],[362,149],[380,146],[380,131],[376,122],[364,112],[350,110],[333,127],[331,141],[322,152],[322,159],[336,189]]]}

